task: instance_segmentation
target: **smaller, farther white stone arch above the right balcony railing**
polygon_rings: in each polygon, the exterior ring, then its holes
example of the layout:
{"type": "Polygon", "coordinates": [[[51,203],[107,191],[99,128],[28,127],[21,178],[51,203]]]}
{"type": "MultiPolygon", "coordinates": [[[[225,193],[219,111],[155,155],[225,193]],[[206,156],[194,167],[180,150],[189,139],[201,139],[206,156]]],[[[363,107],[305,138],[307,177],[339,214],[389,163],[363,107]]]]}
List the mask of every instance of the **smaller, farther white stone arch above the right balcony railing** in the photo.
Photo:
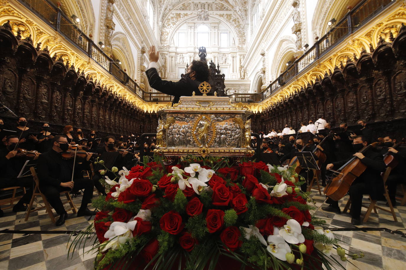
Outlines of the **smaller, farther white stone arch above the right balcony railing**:
{"type": "Polygon", "coordinates": [[[283,36],[276,45],[275,57],[272,60],[272,78],[278,78],[281,75],[281,71],[286,69],[286,63],[296,51],[295,39],[291,36],[283,36]]]}

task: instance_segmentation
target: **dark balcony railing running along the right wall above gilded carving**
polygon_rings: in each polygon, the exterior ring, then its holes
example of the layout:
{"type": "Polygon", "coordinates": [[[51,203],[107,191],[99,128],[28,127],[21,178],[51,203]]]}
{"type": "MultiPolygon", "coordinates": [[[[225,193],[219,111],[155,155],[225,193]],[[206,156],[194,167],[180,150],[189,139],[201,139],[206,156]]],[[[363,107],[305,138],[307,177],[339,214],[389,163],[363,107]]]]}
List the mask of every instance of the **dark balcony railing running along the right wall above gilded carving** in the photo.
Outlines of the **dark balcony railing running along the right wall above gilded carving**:
{"type": "Polygon", "coordinates": [[[338,45],[343,39],[369,22],[376,14],[382,12],[393,2],[395,2],[395,0],[363,0],[360,2],[354,9],[348,12],[345,17],[337,22],[337,24],[332,26],[326,35],[316,41],[311,48],[292,63],[276,80],[271,82],[264,91],[258,94],[251,94],[252,97],[261,97],[261,99],[247,98],[247,94],[238,93],[230,95],[230,97],[234,96],[232,98],[237,102],[248,99],[253,99],[254,102],[260,102],[270,97],[273,93],[278,91],[281,86],[292,80],[315,60],[326,55],[327,52],[338,45]]]}

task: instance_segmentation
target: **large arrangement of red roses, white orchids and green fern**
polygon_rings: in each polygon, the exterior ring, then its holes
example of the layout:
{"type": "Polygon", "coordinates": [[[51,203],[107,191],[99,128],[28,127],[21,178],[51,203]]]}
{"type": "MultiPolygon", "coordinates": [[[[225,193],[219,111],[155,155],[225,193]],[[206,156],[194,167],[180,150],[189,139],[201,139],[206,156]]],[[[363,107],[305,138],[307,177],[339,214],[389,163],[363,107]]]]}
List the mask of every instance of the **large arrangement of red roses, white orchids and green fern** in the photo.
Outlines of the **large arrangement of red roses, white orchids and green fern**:
{"type": "Polygon", "coordinates": [[[294,168],[212,157],[156,161],[113,167],[117,177],[105,177],[110,192],[93,201],[94,224],[70,246],[95,231],[95,269],[331,269],[339,264],[334,249],[346,260],[325,221],[311,215],[294,168]]]}

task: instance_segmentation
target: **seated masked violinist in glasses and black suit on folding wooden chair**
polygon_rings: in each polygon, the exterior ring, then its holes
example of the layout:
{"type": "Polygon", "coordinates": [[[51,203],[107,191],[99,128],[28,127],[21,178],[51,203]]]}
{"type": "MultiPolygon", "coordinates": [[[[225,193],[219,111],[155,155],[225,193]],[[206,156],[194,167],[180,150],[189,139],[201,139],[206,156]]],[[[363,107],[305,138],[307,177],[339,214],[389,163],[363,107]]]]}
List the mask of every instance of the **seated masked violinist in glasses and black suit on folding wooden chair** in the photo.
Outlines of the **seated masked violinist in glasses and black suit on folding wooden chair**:
{"type": "Polygon", "coordinates": [[[69,143],[65,136],[55,136],[52,139],[52,143],[52,149],[39,156],[37,173],[41,192],[48,199],[50,205],[54,207],[56,213],[60,215],[55,223],[56,226],[60,226],[65,223],[67,218],[67,213],[59,194],[64,190],[84,190],[77,216],[92,216],[96,213],[87,208],[87,204],[93,195],[93,181],[91,179],[84,179],[82,173],[82,170],[90,169],[89,160],[92,154],[87,153],[85,160],[74,164],[73,158],[69,160],[63,159],[60,154],[61,152],[66,152],[69,148],[69,143]]]}

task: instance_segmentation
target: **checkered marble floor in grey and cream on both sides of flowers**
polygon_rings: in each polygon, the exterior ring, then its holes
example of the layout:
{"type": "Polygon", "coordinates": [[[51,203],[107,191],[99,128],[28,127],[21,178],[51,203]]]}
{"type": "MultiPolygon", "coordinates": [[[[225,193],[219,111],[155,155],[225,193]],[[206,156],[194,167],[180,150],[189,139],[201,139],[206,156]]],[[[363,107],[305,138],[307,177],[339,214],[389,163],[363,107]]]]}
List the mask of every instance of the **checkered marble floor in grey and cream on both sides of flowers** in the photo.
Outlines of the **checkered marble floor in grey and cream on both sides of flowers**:
{"type": "MultiPolygon", "coordinates": [[[[97,194],[94,194],[96,197],[97,194]]],[[[325,197],[318,192],[312,191],[312,197],[316,201],[316,207],[320,207],[325,197]]],[[[364,198],[367,201],[367,197],[364,198]]],[[[74,198],[76,205],[80,205],[82,196],[74,198]]],[[[348,196],[341,202],[343,210],[348,196]]],[[[41,201],[40,201],[41,203],[41,201]]],[[[384,202],[380,202],[383,203],[384,202]]],[[[89,205],[90,206],[90,205],[89,205]]],[[[93,209],[92,209],[93,210],[93,209]]],[[[363,208],[363,212],[365,212],[363,208]]],[[[372,213],[369,220],[359,227],[385,227],[388,229],[405,229],[406,206],[395,208],[398,222],[394,222],[387,212],[378,210],[378,214],[372,213]]],[[[89,217],[76,217],[72,212],[68,213],[65,224],[55,227],[45,210],[35,212],[27,221],[24,221],[23,212],[14,213],[11,209],[4,211],[4,217],[0,218],[0,230],[79,230],[92,223],[89,217]]],[[[354,227],[350,215],[334,214],[318,210],[317,216],[325,218],[329,227],[354,227]]],[[[348,259],[343,262],[337,255],[333,255],[347,270],[400,270],[406,265],[406,238],[387,232],[337,232],[336,235],[342,240],[341,246],[350,250],[350,253],[363,251],[362,259],[348,259]]],[[[91,270],[93,269],[96,254],[86,253],[83,249],[75,250],[67,258],[67,244],[69,235],[59,234],[35,234],[23,236],[22,234],[0,234],[0,269],[17,270],[91,270]],[[72,259],[71,256],[73,255],[72,259]]],[[[85,251],[91,249],[90,241],[86,244],[85,251]]],[[[336,268],[341,269],[341,268],[336,268]]]]}

